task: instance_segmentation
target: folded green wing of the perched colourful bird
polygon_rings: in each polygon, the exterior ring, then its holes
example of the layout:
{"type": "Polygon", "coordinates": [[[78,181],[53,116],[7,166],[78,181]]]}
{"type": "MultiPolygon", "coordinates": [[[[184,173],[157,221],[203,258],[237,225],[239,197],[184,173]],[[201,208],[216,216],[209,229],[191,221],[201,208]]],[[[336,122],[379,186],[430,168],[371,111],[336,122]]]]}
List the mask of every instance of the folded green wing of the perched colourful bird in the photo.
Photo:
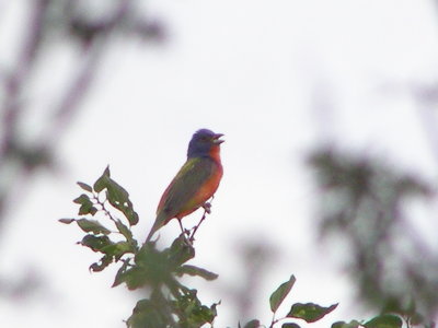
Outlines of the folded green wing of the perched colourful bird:
{"type": "Polygon", "coordinates": [[[215,165],[217,164],[207,157],[187,160],[164,191],[157,214],[170,220],[185,209],[199,188],[211,177],[215,165]]]}

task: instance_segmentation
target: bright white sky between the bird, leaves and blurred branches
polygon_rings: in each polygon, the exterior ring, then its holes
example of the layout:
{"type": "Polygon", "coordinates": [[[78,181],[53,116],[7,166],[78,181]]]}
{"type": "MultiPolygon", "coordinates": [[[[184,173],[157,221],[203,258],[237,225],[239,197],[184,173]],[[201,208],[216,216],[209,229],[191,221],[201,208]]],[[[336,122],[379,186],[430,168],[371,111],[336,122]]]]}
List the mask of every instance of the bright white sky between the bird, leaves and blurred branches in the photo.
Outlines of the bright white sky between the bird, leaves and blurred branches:
{"type": "MultiPolygon", "coordinates": [[[[47,289],[22,304],[0,298],[1,325],[124,327],[122,319],[139,296],[110,288],[115,270],[89,273],[97,256],[74,245],[79,229],[56,220],[76,213],[74,183],[93,183],[110,164],[131,195],[141,220],[135,233],[145,238],[192,133],[204,127],[226,134],[224,177],[212,214],[197,233],[194,263],[219,279],[191,284],[209,290],[200,294],[206,304],[222,300],[216,327],[237,327],[229,288],[242,284],[237,250],[246,239],[277,251],[264,268],[254,308],[266,325],[268,296],[291,273],[298,281],[288,305],[341,302],[310,327],[366,318],[338,269],[335,255],[343,251],[316,245],[314,192],[303,163],[315,141],[333,139],[405,169],[433,172],[436,163],[418,124],[422,107],[407,91],[438,75],[431,1],[151,0],[145,7],[166,23],[168,43],[114,47],[59,144],[60,172],[30,181],[8,218],[0,241],[2,274],[20,277],[32,267],[47,289]],[[325,103],[326,113],[315,110],[325,103]]],[[[9,11],[2,16],[18,20],[12,5],[9,11]]],[[[0,42],[12,42],[11,35],[0,32],[0,42]]],[[[62,72],[69,60],[60,50],[50,61],[62,72]]],[[[56,90],[55,70],[42,73],[35,97],[43,103],[56,90]]],[[[162,239],[177,231],[172,222],[162,239]]]]}

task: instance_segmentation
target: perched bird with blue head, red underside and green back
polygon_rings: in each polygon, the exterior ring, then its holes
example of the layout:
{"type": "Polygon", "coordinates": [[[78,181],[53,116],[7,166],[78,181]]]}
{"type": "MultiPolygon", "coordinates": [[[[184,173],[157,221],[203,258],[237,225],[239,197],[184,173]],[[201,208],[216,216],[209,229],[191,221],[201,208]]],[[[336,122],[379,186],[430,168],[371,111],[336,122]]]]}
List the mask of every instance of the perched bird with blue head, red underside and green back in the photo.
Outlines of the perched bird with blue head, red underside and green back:
{"type": "Polygon", "coordinates": [[[157,219],[146,239],[169,221],[181,219],[203,207],[214,196],[222,178],[220,144],[223,134],[201,129],[193,134],[188,143],[187,161],[164,190],[157,209],[157,219]]]}

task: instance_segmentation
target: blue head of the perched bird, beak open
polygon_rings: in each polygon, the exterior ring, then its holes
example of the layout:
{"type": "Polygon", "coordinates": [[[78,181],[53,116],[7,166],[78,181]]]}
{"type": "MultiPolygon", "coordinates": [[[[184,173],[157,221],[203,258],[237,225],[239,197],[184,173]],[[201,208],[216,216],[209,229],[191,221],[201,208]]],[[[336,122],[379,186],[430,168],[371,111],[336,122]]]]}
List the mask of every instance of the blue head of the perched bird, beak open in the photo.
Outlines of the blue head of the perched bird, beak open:
{"type": "Polygon", "coordinates": [[[219,145],[224,141],[219,139],[222,136],[208,129],[196,131],[188,143],[187,157],[209,156],[211,151],[219,150],[219,145]]]}

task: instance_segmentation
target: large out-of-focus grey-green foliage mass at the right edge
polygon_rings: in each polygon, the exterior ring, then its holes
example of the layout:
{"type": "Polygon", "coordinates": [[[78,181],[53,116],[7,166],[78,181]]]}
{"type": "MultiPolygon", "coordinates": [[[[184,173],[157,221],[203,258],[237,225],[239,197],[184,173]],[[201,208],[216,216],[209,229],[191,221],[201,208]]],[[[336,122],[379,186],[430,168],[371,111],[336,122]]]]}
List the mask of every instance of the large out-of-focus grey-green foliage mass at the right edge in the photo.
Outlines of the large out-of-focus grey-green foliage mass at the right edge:
{"type": "Polygon", "coordinates": [[[346,266],[359,300],[381,312],[362,326],[395,328],[404,321],[431,327],[438,311],[438,256],[415,233],[416,218],[406,209],[431,198],[434,188],[379,161],[331,149],[314,152],[310,161],[321,189],[321,233],[347,243],[346,266]]]}

